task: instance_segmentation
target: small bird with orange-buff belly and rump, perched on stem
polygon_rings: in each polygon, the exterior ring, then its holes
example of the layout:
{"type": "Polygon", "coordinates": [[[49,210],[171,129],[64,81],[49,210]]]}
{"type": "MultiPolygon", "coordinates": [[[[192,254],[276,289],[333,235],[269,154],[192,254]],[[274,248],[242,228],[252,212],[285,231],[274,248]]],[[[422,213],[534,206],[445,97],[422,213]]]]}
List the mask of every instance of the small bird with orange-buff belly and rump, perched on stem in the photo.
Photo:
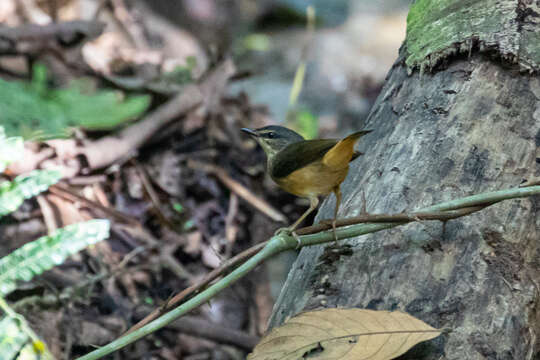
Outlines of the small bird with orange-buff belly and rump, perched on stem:
{"type": "Polygon", "coordinates": [[[343,139],[315,140],[305,140],[297,132],[277,125],[241,130],[262,147],[267,158],[267,172],[272,180],[283,190],[309,199],[309,209],[291,226],[279,229],[278,232],[286,230],[294,236],[298,225],[317,208],[319,196],[333,192],[336,196],[336,207],[332,229],[337,241],[336,220],[341,204],[340,185],[347,177],[349,163],[363,155],[354,150],[354,145],[372,130],[358,131],[343,139]]]}

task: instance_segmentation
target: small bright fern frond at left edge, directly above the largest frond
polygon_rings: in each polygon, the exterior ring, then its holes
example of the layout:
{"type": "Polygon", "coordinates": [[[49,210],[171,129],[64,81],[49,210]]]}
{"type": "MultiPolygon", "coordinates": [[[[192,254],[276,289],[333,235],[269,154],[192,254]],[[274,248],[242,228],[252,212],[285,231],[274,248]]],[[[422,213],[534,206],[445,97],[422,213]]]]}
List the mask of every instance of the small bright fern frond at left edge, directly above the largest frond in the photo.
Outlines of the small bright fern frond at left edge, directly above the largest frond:
{"type": "Polygon", "coordinates": [[[34,170],[11,182],[0,183],[0,217],[17,210],[25,199],[46,191],[61,178],[62,174],[56,170],[34,170]]]}

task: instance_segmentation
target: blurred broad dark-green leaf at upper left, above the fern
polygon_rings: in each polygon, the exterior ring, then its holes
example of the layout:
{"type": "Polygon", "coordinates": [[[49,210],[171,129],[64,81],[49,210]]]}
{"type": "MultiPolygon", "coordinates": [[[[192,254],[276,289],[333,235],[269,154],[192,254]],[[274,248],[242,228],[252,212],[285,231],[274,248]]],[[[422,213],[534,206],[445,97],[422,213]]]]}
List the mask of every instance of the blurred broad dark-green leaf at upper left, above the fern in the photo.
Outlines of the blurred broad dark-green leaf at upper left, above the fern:
{"type": "Polygon", "coordinates": [[[119,91],[89,90],[78,80],[65,89],[49,87],[43,66],[31,83],[0,79],[0,124],[9,136],[25,139],[68,137],[73,128],[109,130],[140,116],[149,96],[126,97],[119,91]]]}

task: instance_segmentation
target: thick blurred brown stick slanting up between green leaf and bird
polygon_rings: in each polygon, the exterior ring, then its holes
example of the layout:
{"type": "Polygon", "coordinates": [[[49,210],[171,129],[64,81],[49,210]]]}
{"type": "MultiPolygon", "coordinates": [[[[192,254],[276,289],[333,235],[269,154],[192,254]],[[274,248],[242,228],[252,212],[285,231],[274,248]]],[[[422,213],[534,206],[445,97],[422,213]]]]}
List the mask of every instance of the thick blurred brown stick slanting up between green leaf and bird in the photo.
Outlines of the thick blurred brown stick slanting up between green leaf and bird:
{"type": "Polygon", "coordinates": [[[128,157],[175,118],[201,104],[206,107],[213,106],[221,98],[234,72],[232,61],[225,60],[200,84],[187,85],[182,93],[149,113],[143,120],[115,136],[107,136],[88,144],[79,153],[86,157],[90,169],[99,169],[128,157]]]}

